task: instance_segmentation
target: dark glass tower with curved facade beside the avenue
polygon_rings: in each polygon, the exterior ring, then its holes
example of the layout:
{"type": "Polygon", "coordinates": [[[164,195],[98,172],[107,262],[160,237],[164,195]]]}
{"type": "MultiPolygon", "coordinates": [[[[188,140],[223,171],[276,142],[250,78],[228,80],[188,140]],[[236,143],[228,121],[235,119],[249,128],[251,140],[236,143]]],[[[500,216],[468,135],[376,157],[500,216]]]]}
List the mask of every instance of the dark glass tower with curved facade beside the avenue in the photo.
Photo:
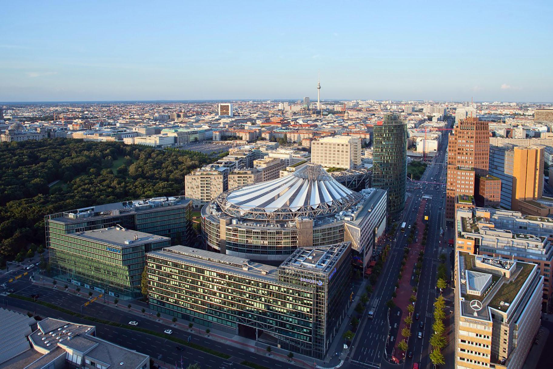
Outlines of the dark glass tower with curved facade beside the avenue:
{"type": "Polygon", "coordinates": [[[395,217],[405,207],[407,127],[398,115],[389,114],[373,133],[373,187],[388,191],[388,214],[395,217]]]}

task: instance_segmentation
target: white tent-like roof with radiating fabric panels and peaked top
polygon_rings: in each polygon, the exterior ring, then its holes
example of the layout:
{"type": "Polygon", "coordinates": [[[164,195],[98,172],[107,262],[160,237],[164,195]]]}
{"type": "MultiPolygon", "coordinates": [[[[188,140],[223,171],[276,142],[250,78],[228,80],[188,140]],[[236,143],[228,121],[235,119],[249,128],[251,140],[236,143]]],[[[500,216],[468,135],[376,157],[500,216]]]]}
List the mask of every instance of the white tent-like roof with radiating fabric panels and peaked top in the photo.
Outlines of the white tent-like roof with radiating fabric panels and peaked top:
{"type": "Polygon", "coordinates": [[[282,178],[223,193],[216,201],[223,212],[242,219],[294,220],[335,214],[361,198],[320,165],[309,163],[282,178]]]}

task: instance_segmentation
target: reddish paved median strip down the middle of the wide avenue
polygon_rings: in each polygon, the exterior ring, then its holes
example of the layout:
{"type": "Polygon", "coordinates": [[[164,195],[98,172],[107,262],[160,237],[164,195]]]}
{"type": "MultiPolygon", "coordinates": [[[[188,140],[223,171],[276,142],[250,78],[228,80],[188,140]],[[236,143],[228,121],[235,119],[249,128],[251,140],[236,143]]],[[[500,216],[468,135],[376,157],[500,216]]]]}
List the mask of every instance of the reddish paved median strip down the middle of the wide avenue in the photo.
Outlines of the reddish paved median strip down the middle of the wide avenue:
{"type": "MultiPolygon", "coordinates": [[[[411,278],[414,278],[415,274],[413,269],[415,269],[415,264],[418,262],[419,252],[424,251],[424,246],[422,246],[422,235],[424,233],[424,222],[422,221],[422,217],[424,215],[424,210],[426,207],[426,199],[422,199],[419,207],[419,211],[417,212],[416,216],[416,222],[417,227],[416,230],[418,230],[417,233],[415,233],[415,237],[417,238],[417,242],[411,243],[409,245],[409,257],[407,258],[407,261],[405,263],[405,268],[403,269],[402,278],[399,283],[399,288],[396,289],[397,296],[394,298],[394,303],[398,306],[398,308],[401,310],[401,317],[400,317],[400,323],[397,331],[397,335],[395,337],[395,345],[394,350],[392,351],[392,355],[397,357],[398,359],[403,359],[404,351],[400,350],[398,347],[398,344],[403,338],[401,338],[401,330],[403,330],[407,325],[405,324],[405,317],[408,316],[407,306],[411,303],[409,301],[411,295],[413,294],[413,286],[411,285],[411,278]]],[[[415,293],[416,295],[416,293],[415,293]]],[[[407,339],[409,341],[409,339],[407,339]]]]}

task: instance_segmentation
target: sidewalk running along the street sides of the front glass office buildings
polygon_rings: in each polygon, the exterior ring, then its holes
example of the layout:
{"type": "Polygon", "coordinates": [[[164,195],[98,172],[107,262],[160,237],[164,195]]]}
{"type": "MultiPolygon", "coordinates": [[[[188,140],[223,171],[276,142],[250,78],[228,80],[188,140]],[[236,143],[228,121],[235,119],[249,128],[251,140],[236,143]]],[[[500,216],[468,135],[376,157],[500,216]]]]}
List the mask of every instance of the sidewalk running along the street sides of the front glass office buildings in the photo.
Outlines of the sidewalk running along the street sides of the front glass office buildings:
{"type": "MultiPolygon", "coordinates": [[[[51,283],[51,281],[53,280],[52,278],[45,277],[45,276],[39,276],[38,274],[37,274],[37,277],[39,278],[39,281],[36,281],[36,278],[35,278],[35,282],[34,282],[35,285],[38,285],[40,287],[54,288],[54,285],[51,283]],[[43,278],[43,280],[40,280],[40,277],[43,278]]],[[[67,283],[67,285],[69,285],[69,288],[67,290],[65,290],[65,288],[63,288],[63,285],[64,285],[64,283],[62,283],[62,285],[60,286],[60,282],[58,282],[58,284],[56,284],[55,289],[60,290],[61,292],[77,294],[77,292],[75,290],[75,288],[76,288],[75,285],[70,285],[69,283],[67,283]]],[[[99,294],[98,292],[96,292],[94,290],[90,290],[90,289],[87,289],[87,288],[84,288],[84,287],[80,287],[80,288],[81,288],[81,290],[80,290],[78,295],[80,295],[82,298],[88,298],[88,292],[93,293],[92,298],[97,297],[98,294],[99,294]]],[[[356,298],[353,300],[352,305],[349,307],[350,308],[348,310],[349,315],[351,315],[351,313],[353,311],[353,308],[355,307],[355,304],[357,303],[356,299],[358,300],[363,293],[364,293],[364,284],[362,284],[362,287],[359,288],[359,291],[358,291],[358,294],[356,295],[356,298]]],[[[268,345],[263,343],[263,342],[247,339],[246,337],[238,336],[236,334],[232,334],[232,333],[229,333],[229,332],[220,331],[220,330],[217,330],[215,328],[207,328],[205,326],[201,326],[201,325],[194,324],[194,323],[193,323],[194,326],[192,327],[192,329],[190,329],[189,328],[189,323],[191,323],[190,321],[187,321],[187,320],[184,320],[184,319],[179,319],[176,323],[173,323],[174,316],[169,315],[169,314],[164,314],[164,313],[160,313],[159,318],[157,318],[156,314],[158,313],[158,311],[155,311],[155,310],[149,309],[147,307],[144,307],[144,306],[141,305],[142,303],[137,303],[135,300],[124,300],[124,301],[119,300],[118,304],[115,305],[114,302],[113,302],[114,299],[115,299],[114,297],[105,296],[105,299],[106,299],[105,304],[111,305],[113,308],[117,308],[117,309],[120,309],[120,310],[125,310],[125,311],[128,311],[129,313],[132,313],[132,314],[135,314],[135,315],[140,315],[140,316],[142,316],[142,318],[145,318],[145,319],[158,321],[161,324],[167,325],[168,328],[180,329],[180,330],[185,331],[185,332],[190,332],[190,334],[193,334],[193,335],[196,335],[196,336],[197,335],[203,335],[204,337],[208,337],[211,340],[215,340],[215,341],[221,342],[223,344],[228,344],[228,342],[232,342],[235,345],[241,346],[242,349],[245,349],[245,350],[248,350],[248,351],[251,351],[251,352],[255,352],[259,355],[266,355],[266,356],[269,356],[271,358],[275,358],[277,360],[281,360],[281,361],[286,362],[286,363],[291,363],[293,365],[298,365],[298,366],[302,366],[302,367],[306,367],[306,368],[315,368],[315,367],[334,368],[334,367],[339,367],[341,365],[340,358],[332,356],[333,354],[335,354],[335,351],[332,351],[332,349],[336,347],[336,345],[338,344],[338,341],[342,342],[343,332],[346,330],[347,326],[349,325],[349,319],[346,316],[346,318],[344,319],[344,321],[342,323],[340,331],[338,331],[338,334],[336,335],[336,338],[332,343],[331,349],[328,350],[328,354],[325,357],[324,361],[318,360],[318,359],[315,359],[315,358],[312,358],[312,357],[309,357],[309,356],[301,355],[301,354],[298,354],[296,352],[293,352],[294,357],[290,361],[290,359],[288,358],[288,352],[289,351],[279,349],[276,346],[271,345],[272,350],[271,350],[270,353],[268,353],[267,350],[266,350],[268,345]],[[131,309],[128,308],[129,304],[131,304],[131,309]],[[142,313],[142,309],[145,310],[144,313],[142,313]],[[206,332],[205,332],[206,329],[210,330],[209,334],[206,334],[206,332]]],[[[95,302],[93,302],[93,304],[97,304],[97,303],[104,304],[104,297],[102,297],[101,299],[98,299],[95,302]]],[[[84,314],[84,315],[86,315],[86,310],[85,309],[86,308],[84,308],[84,310],[82,311],[82,314],[84,314]]],[[[164,366],[165,367],[171,367],[171,366],[167,366],[167,365],[164,365],[164,366]]]]}

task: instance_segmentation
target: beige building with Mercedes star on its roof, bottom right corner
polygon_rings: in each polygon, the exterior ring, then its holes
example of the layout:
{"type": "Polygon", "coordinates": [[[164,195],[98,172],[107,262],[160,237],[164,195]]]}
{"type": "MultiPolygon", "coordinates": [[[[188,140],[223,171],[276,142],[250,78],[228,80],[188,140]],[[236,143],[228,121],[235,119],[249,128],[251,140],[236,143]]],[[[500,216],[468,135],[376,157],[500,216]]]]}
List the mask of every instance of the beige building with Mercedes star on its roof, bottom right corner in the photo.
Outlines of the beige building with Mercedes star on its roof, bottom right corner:
{"type": "Polygon", "coordinates": [[[519,369],[540,327],[536,264],[457,251],[455,367],[519,369]]]}

